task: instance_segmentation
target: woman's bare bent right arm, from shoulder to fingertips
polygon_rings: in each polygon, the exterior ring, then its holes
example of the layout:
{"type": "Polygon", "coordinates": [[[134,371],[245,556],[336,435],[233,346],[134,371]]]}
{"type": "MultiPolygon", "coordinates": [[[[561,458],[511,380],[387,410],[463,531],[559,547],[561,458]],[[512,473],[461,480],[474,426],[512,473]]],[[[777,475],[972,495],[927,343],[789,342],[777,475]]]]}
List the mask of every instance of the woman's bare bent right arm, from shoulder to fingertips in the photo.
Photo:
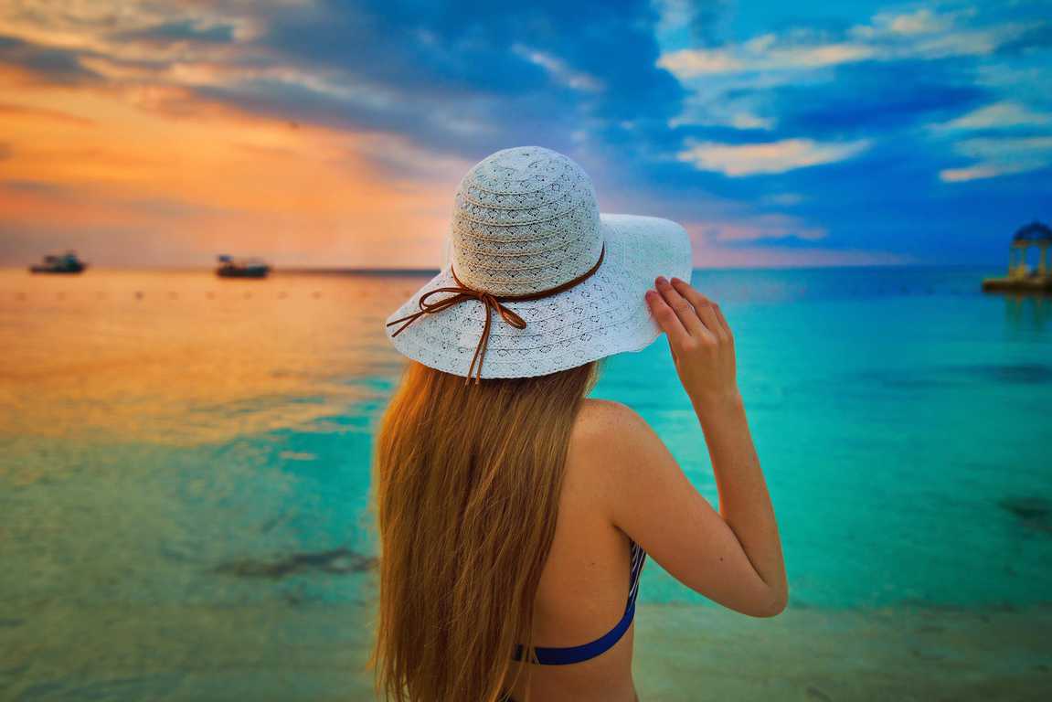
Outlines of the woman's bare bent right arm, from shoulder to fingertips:
{"type": "Polygon", "coordinates": [[[719,305],[687,283],[659,279],[656,287],[647,301],[708,444],[720,512],[639,415],[603,402],[592,405],[583,439],[603,457],[610,519],[691,589],[736,611],[772,617],[786,606],[788,584],[734,377],[733,336],[719,305]]]}

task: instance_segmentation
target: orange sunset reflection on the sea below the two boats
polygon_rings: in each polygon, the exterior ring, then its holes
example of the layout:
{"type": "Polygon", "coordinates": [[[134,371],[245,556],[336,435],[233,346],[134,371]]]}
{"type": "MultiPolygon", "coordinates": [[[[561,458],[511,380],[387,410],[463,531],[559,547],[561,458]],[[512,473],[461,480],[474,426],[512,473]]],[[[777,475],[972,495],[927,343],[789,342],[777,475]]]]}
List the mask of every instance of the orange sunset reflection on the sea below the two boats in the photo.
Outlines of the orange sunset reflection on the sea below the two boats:
{"type": "Polygon", "coordinates": [[[382,318],[421,282],[4,272],[0,432],[185,446],[302,426],[391,372],[382,318]]]}

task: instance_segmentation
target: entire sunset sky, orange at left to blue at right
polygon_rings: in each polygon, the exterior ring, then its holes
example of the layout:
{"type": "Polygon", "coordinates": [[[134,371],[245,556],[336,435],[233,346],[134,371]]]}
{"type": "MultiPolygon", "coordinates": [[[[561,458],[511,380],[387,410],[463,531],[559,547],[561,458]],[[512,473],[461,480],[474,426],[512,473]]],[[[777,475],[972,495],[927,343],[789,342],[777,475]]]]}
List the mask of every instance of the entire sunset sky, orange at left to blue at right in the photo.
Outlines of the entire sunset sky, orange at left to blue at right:
{"type": "Polygon", "coordinates": [[[1052,0],[0,0],[0,265],[436,268],[540,144],[697,266],[1000,266],[1050,68],[1052,0]]]}

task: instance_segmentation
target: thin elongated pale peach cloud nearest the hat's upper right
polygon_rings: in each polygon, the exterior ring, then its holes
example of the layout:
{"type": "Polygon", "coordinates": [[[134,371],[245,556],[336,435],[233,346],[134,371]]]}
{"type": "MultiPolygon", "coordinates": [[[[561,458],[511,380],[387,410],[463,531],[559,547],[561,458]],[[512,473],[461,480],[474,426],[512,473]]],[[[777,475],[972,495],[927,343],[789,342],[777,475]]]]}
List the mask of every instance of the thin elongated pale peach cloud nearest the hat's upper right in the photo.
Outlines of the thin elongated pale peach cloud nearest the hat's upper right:
{"type": "Polygon", "coordinates": [[[699,171],[716,171],[727,176],[784,173],[794,168],[849,159],[869,146],[869,141],[818,143],[810,139],[783,139],[755,144],[721,144],[689,140],[676,154],[681,161],[699,171]]]}

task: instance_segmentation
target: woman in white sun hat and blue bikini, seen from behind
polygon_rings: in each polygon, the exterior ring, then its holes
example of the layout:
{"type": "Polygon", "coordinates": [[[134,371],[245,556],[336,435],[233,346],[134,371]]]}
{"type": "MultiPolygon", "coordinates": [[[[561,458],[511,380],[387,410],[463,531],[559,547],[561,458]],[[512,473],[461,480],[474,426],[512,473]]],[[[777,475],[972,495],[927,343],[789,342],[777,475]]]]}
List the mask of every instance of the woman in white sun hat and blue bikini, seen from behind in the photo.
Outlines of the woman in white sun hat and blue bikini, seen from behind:
{"type": "Polygon", "coordinates": [[[782,611],[733,336],[684,280],[683,227],[600,214],[576,163],[529,146],[468,172],[448,244],[447,265],[387,321],[410,363],[376,444],[379,694],[635,700],[648,555],[729,608],[782,611]],[[708,443],[719,513],[639,415],[586,398],[600,359],[661,332],[708,443]]]}

